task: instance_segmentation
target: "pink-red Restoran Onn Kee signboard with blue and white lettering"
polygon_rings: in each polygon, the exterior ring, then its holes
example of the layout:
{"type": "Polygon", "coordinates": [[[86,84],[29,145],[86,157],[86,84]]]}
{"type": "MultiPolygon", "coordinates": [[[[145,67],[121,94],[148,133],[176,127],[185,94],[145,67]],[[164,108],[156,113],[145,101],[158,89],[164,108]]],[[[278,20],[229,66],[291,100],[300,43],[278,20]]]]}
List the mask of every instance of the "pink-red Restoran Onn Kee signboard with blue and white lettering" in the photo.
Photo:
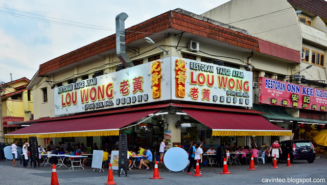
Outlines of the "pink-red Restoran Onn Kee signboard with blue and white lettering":
{"type": "Polygon", "coordinates": [[[325,111],[327,91],[260,77],[259,103],[325,111]]]}

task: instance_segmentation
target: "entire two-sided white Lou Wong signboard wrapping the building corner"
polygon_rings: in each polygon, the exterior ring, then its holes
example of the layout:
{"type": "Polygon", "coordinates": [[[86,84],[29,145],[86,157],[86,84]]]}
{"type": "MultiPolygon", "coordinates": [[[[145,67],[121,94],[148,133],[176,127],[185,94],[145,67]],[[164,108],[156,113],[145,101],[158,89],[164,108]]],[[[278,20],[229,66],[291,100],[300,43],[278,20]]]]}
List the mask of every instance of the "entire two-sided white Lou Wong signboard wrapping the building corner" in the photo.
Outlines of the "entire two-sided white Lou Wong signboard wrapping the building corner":
{"type": "Polygon", "coordinates": [[[166,57],[54,89],[55,115],[166,100],[252,106],[252,73],[166,57]]]}

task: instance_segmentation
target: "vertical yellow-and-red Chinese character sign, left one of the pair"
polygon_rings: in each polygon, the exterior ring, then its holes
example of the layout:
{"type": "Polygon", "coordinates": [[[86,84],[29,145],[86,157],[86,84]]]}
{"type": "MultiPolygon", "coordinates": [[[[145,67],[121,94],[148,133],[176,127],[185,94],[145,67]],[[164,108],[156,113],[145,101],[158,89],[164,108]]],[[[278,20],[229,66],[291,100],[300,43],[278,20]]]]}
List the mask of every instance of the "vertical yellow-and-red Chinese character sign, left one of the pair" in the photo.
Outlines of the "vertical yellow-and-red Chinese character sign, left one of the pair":
{"type": "Polygon", "coordinates": [[[161,97],[161,63],[160,61],[154,60],[151,63],[151,71],[152,74],[152,98],[160,98],[161,97]]]}

